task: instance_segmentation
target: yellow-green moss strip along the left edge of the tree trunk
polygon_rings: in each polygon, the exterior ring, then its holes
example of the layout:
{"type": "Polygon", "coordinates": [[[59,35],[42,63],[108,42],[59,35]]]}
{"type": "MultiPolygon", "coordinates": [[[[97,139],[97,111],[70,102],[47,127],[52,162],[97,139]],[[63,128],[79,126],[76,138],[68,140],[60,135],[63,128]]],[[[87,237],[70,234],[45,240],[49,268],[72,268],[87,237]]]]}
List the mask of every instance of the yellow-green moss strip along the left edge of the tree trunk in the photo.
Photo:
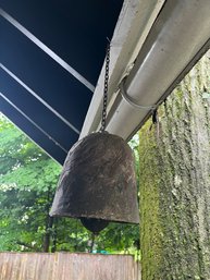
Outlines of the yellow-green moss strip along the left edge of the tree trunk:
{"type": "Polygon", "coordinates": [[[155,161],[153,153],[157,149],[153,133],[149,130],[150,122],[139,133],[139,157],[140,157],[140,244],[143,279],[160,279],[159,268],[161,264],[161,236],[162,230],[159,221],[159,182],[158,162],[155,161]],[[151,168],[152,167],[152,172],[151,168]],[[152,178],[150,174],[152,173],[152,178]],[[150,180],[149,180],[150,178],[150,180]]]}

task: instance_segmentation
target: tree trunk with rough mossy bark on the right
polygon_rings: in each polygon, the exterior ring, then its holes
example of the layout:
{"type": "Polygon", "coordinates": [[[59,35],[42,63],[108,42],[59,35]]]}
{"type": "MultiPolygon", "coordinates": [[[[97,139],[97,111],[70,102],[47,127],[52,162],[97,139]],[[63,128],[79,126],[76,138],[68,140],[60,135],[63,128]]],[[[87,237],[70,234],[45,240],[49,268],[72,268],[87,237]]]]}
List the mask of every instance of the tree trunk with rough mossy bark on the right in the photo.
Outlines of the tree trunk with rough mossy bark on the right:
{"type": "Polygon", "coordinates": [[[210,63],[139,132],[143,280],[210,280],[210,63]]]}

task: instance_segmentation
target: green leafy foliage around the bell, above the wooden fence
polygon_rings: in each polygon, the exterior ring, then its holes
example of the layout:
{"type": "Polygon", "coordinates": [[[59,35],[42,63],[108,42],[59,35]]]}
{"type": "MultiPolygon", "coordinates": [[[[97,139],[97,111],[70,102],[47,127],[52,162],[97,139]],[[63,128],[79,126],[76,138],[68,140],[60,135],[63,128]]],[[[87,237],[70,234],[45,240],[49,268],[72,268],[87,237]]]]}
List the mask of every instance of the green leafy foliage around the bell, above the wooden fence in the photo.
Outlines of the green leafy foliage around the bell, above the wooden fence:
{"type": "MultiPolygon", "coordinates": [[[[138,139],[131,146],[137,156],[138,139]]],[[[57,218],[49,226],[60,172],[59,163],[0,114],[0,251],[40,252],[48,235],[51,249],[90,251],[91,233],[79,220],[57,218]]],[[[110,223],[95,249],[133,253],[138,236],[136,226],[110,223]]]]}

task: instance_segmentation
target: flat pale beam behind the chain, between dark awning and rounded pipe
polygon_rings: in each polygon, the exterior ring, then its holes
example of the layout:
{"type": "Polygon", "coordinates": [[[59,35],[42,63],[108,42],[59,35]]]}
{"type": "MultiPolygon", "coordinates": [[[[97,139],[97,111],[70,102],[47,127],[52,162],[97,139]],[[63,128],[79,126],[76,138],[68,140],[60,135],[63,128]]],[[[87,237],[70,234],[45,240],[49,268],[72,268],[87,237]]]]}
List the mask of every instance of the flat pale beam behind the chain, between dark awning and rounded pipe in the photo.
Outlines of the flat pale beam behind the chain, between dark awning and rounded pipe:
{"type": "MultiPolygon", "coordinates": [[[[136,60],[153,22],[165,0],[125,0],[111,39],[111,62],[109,82],[109,108],[116,97],[120,81],[126,75],[136,60]]],[[[101,119],[104,64],[91,99],[81,138],[98,130],[101,119]]]]}

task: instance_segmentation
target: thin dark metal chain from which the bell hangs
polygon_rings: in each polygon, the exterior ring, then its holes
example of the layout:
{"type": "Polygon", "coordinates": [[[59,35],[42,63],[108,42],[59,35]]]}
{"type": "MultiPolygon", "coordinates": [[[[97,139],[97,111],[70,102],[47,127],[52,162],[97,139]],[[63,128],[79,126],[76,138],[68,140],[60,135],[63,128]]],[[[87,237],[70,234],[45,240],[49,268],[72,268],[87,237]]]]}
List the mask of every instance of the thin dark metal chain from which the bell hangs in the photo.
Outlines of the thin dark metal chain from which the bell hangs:
{"type": "Polygon", "coordinates": [[[103,87],[103,107],[102,107],[102,119],[101,119],[100,132],[104,132],[106,124],[107,124],[109,66],[110,66],[110,44],[108,44],[107,56],[106,56],[104,87],[103,87]]]}

